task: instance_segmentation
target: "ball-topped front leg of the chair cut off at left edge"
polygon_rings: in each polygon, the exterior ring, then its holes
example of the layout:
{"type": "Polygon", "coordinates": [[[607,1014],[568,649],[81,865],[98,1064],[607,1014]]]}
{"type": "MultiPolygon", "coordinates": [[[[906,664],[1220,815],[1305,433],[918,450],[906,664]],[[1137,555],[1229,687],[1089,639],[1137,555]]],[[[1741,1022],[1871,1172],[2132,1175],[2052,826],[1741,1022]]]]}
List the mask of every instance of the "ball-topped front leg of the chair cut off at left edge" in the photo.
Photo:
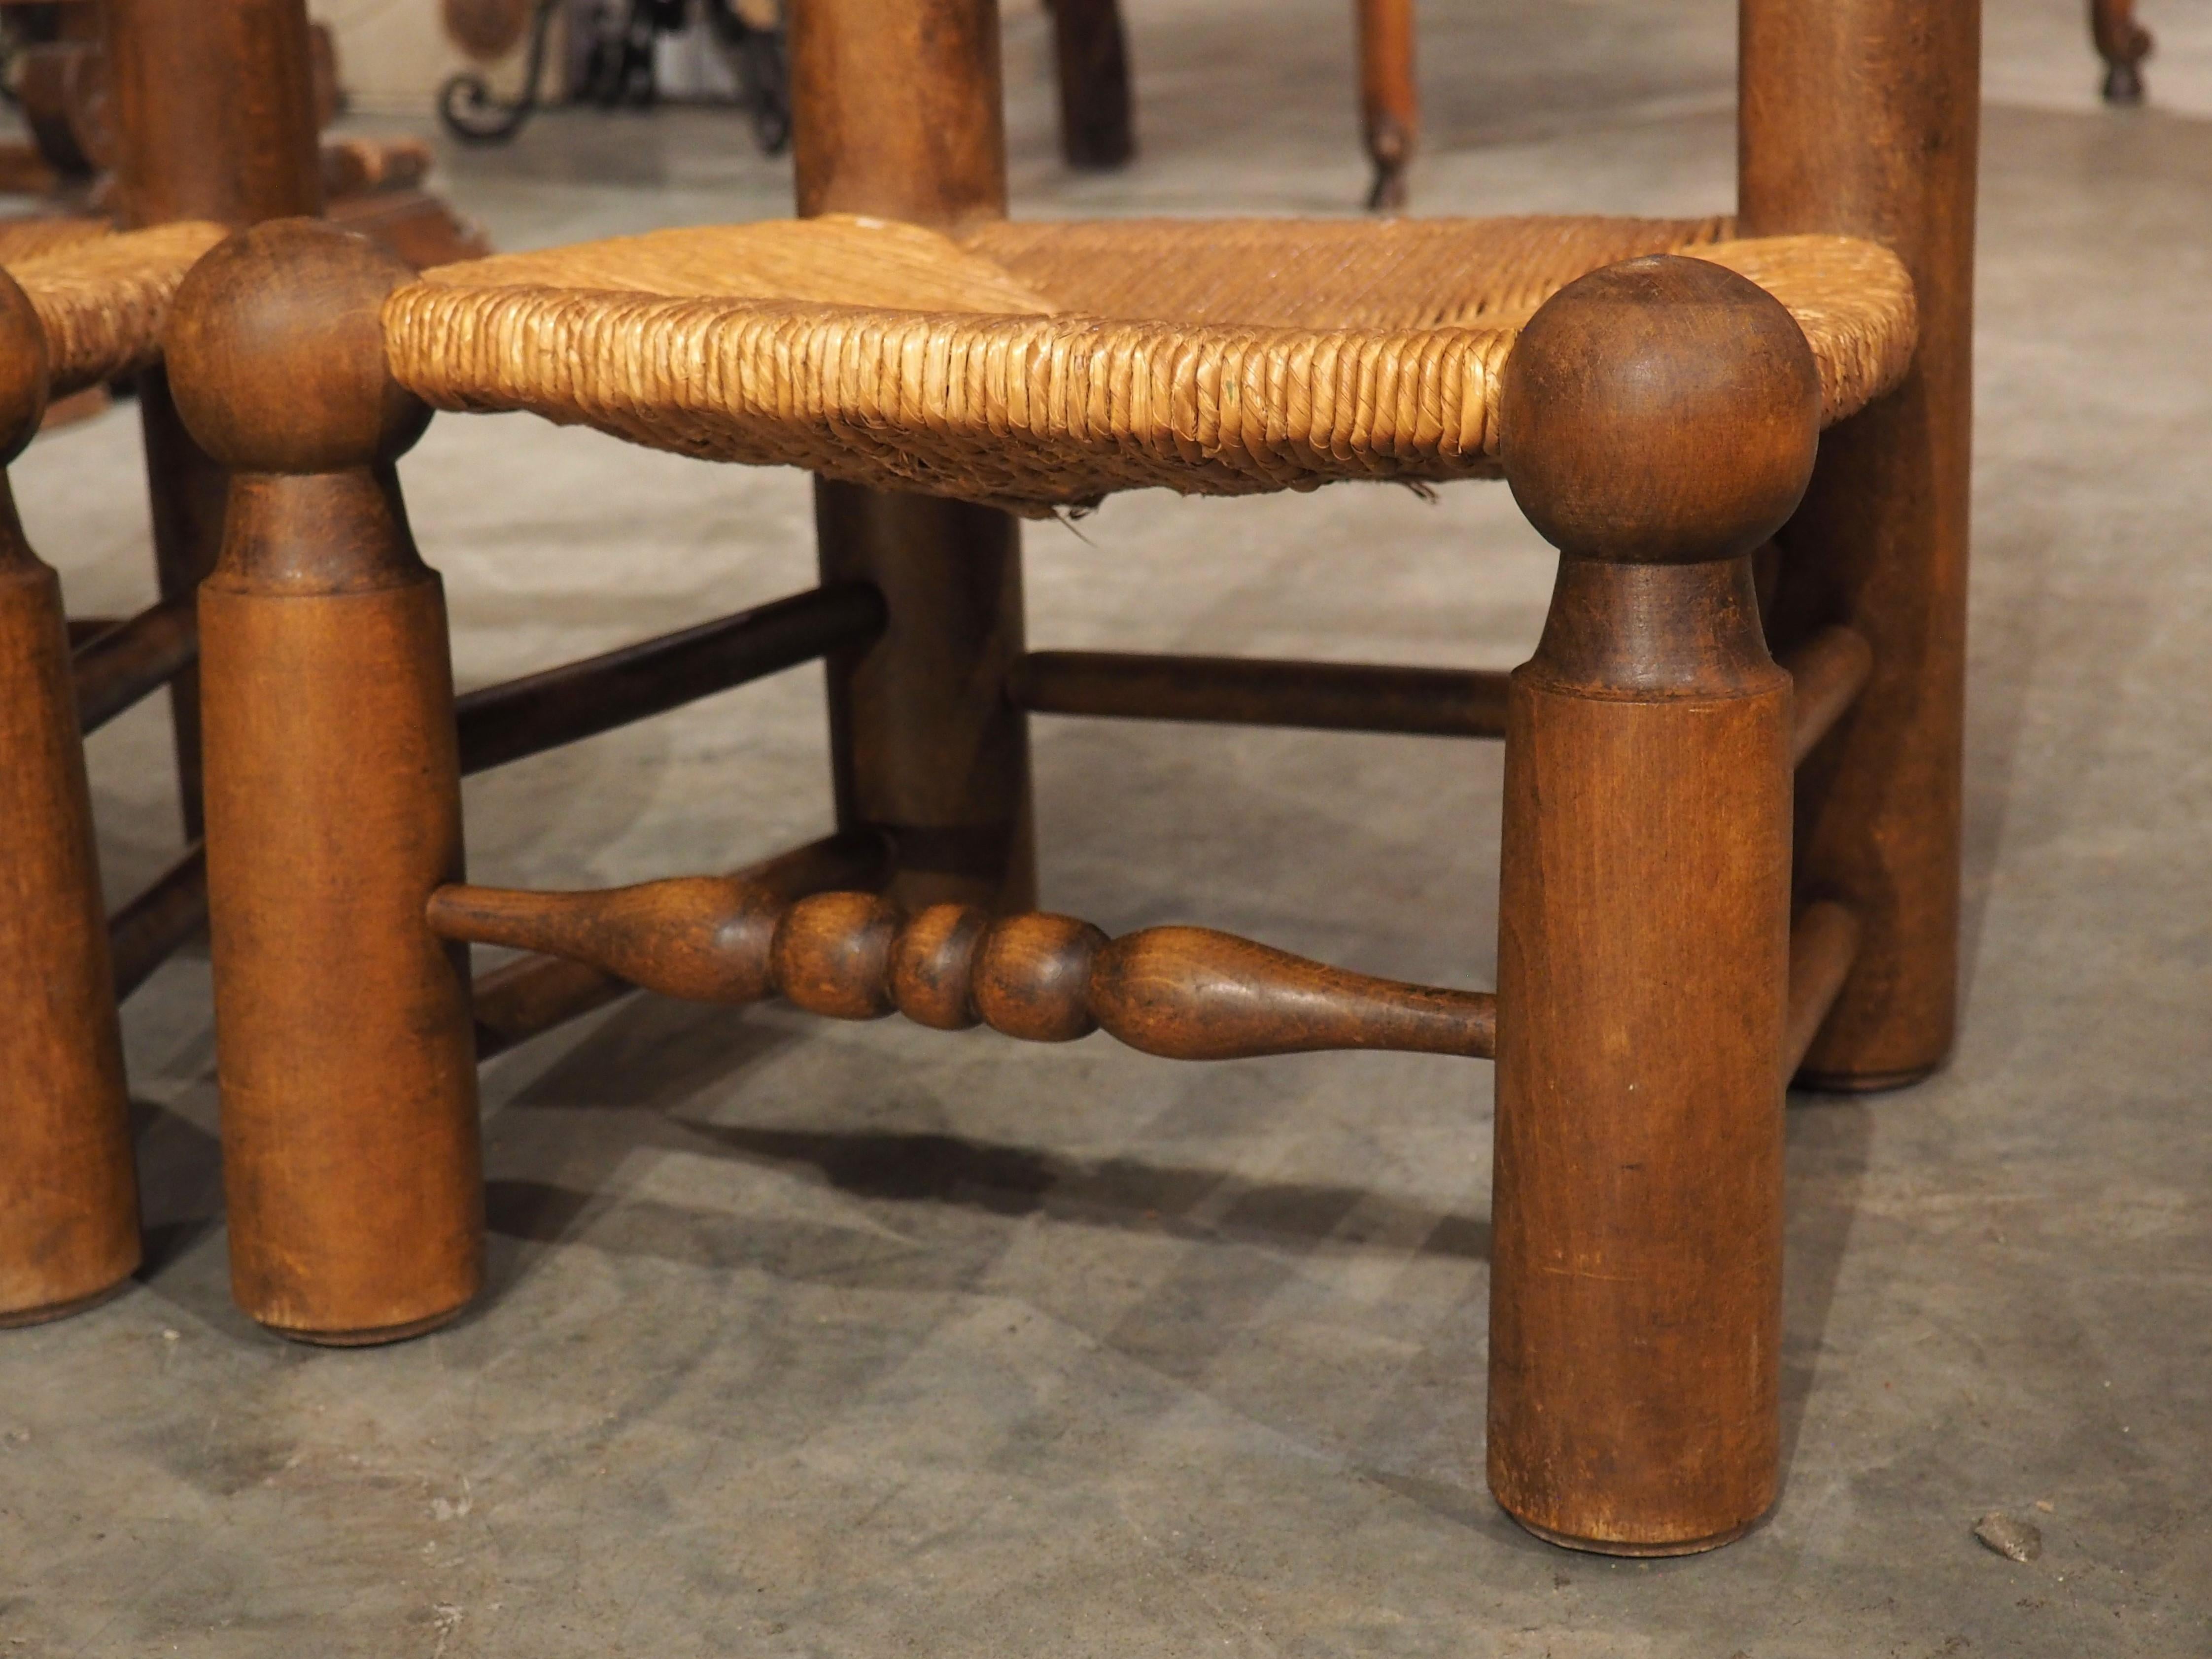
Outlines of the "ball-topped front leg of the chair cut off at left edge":
{"type": "MultiPolygon", "coordinates": [[[[0,274],[0,456],[46,409],[46,336],[0,274]]],[[[0,1325],[58,1318],[139,1263],[108,922],[62,584],[0,473],[0,1325]]]]}

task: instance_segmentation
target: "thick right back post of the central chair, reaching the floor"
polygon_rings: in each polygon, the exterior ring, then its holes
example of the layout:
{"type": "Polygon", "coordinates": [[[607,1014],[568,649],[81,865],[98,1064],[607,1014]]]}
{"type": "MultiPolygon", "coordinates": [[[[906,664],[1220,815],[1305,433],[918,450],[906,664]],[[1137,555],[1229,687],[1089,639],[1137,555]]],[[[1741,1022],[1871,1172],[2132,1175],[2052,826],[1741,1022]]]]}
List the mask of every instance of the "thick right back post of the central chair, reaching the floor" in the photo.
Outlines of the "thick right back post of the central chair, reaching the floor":
{"type": "Polygon", "coordinates": [[[1980,0],[1743,0],[1741,31],[1743,232],[1869,237],[1918,290],[1913,369],[1823,440],[1770,615],[1776,648],[1874,646],[1798,772],[1796,885],[1865,927],[1805,1079],[1882,1088],[1955,1020],[1980,0]]]}

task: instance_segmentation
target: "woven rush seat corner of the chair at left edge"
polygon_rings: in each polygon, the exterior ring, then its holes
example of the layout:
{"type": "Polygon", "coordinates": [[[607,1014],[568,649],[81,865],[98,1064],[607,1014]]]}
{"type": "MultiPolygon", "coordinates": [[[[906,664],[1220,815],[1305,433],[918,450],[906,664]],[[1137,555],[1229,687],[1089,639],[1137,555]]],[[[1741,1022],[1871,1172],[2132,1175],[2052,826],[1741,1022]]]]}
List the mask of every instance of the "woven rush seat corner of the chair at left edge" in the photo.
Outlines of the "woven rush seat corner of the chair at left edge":
{"type": "Polygon", "coordinates": [[[223,226],[199,221],[122,234],[84,230],[73,219],[0,228],[0,265],[46,334],[49,396],[106,385],[155,363],[177,283],[226,234],[223,226]]]}

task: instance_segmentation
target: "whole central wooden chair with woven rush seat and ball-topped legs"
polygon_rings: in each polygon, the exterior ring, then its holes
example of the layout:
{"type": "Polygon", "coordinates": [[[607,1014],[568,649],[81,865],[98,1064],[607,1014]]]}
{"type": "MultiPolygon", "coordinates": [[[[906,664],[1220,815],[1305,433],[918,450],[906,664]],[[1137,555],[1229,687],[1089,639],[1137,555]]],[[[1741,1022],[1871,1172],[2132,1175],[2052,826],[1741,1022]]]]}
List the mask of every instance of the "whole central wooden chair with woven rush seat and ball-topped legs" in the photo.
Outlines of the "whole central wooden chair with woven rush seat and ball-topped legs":
{"type": "Polygon", "coordinates": [[[991,0],[807,0],[799,221],[422,279],[276,223],[186,281],[170,372],[234,476],[201,588],[234,1292],[321,1343],[451,1318],[480,1053],[630,984],[1495,1053],[1491,1486],[1562,1544],[1721,1544],[1778,1478],[1783,1084],[1951,1044],[1975,4],[1750,0],[1734,226],[1006,223],[995,42],[991,0]],[[823,584],[456,717],[394,471],[431,409],[807,467],[823,584]],[[1562,549],[1511,679],[1024,648],[1020,515],[1500,473],[1562,549]],[[465,770],[816,655],[827,841],[462,880],[465,770]],[[1026,710],[1504,737],[1495,998],[1035,914],[1026,710]],[[471,1004],[469,942],[535,956],[471,1004]]]}

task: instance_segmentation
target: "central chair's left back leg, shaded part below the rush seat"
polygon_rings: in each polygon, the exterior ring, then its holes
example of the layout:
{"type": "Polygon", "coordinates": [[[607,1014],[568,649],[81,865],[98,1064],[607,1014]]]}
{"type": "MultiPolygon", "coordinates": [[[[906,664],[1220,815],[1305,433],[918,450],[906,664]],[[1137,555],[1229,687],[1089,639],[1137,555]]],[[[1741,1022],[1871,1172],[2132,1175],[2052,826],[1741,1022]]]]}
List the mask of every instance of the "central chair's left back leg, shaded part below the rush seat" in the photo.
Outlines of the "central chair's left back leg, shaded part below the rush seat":
{"type": "Polygon", "coordinates": [[[818,480],[823,582],[872,582],[889,622],[830,657],[838,827],[889,830],[900,905],[1033,909],[1022,531],[1009,513],[818,480]]]}

